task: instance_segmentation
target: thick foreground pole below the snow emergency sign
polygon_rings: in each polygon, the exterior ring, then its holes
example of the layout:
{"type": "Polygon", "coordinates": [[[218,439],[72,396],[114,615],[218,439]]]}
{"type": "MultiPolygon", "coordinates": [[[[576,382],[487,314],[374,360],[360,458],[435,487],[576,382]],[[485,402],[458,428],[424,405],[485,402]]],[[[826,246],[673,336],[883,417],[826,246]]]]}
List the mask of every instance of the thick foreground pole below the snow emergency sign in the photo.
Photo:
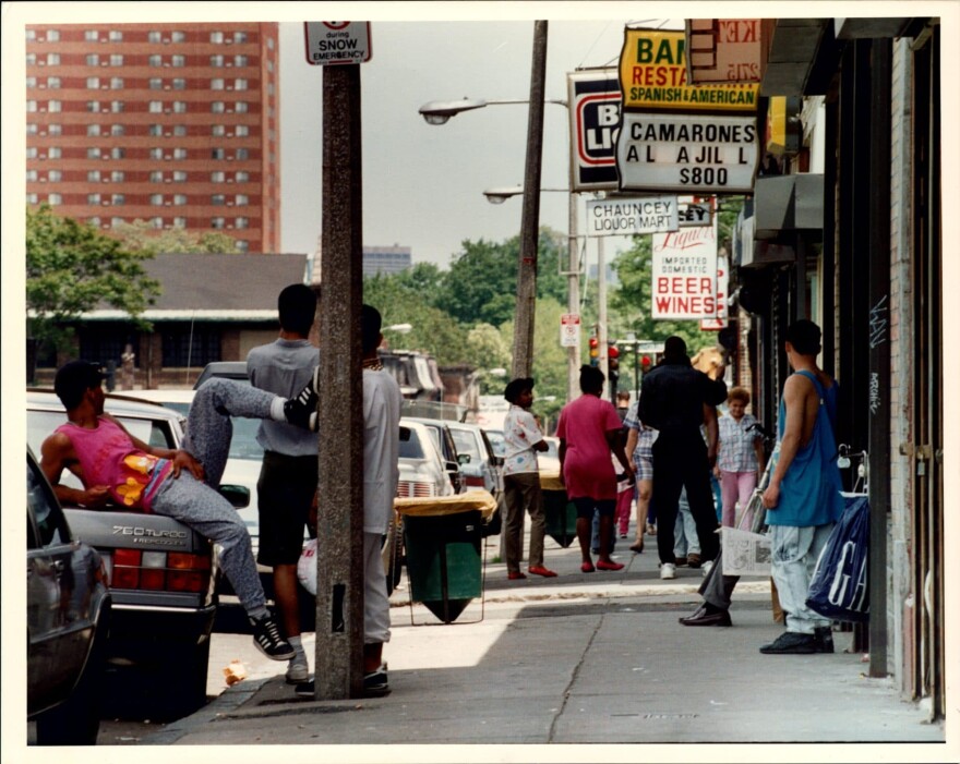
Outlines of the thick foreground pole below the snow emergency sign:
{"type": "Polygon", "coordinates": [[[314,696],[363,693],[360,64],[323,72],[320,480],[314,696]]]}

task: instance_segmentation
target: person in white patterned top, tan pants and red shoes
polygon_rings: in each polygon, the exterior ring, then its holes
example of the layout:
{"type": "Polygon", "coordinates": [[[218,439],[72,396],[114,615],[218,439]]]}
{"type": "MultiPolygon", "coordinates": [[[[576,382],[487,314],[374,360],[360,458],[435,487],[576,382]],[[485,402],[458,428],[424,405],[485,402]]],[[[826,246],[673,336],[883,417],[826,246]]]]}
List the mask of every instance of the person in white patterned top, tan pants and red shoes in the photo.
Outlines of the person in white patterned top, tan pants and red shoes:
{"type": "Polygon", "coordinates": [[[507,578],[511,581],[527,578],[520,570],[524,555],[524,517],[530,516],[530,554],[527,570],[533,575],[556,575],[543,566],[543,538],[547,520],[540,493],[540,468],[537,452],[548,450],[537,420],[530,413],[533,405],[533,380],[521,377],[511,380],[503,397],[509,401],[503,423],[504,448],[503,493],[506,505],[504,522],[504,551],[507,578]]]}

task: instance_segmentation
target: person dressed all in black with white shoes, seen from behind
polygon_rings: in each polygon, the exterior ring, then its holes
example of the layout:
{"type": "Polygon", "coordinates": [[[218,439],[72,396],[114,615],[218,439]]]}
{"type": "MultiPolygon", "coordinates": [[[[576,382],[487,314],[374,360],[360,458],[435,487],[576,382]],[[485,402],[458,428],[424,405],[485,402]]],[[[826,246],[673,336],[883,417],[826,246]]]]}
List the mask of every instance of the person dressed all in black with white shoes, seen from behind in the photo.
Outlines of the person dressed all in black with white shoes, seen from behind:
{"type": "Polygon", "coordinates": [[[676,577],[673,532],[680,492],[685,486],[697,524],[705,568],[719,550],[717,512],[710,488],[710,470],[717,453],[715,407],[727,399],[722,379],[710,379],[695,369],[682,338],[669,337],[663,360],[644,376],[639,400],[640,421],[659,433],[653,444],[653,492],[657,508],[657,551],[660,578],[676,577]],[[708,442],[700,426],[707,425],[708,442]]]}

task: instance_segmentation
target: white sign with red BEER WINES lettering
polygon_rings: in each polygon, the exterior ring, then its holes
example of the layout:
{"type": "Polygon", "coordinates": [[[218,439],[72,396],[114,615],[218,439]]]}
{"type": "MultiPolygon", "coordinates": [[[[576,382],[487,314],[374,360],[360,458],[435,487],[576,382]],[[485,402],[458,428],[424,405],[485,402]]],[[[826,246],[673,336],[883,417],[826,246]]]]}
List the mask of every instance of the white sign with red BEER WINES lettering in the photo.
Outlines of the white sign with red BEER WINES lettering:
{"type": "Polygon", "coordinates": [[[717,315],[717,231],[713,226],[653,234],[655,320],[717,315]]]}

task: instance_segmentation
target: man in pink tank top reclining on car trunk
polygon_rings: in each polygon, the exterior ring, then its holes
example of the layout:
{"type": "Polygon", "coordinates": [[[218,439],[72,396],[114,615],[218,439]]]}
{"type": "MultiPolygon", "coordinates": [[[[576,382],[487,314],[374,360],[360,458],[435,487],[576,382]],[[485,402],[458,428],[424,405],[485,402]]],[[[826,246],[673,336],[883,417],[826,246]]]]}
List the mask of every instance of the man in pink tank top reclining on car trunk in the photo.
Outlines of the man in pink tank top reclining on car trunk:
{"type": "Polygon", "coordinates": [[[219,563],[253,626],[253,642],[273,660],[295,651],[280,634],[266,606],[250,534],[232,505],[218,492],[227,464],[230,415],[272,419],[305,426],[316,398],[285,399],[249,385],[213,378],[190,405],[181,449],[151,446],[133,437],[104,412],[104,374],[83,361],[63,365],[53,388],[67,409],[67,423],[40,447],[40,468],[61,501],[91,509],[113,501],[133,511],[179,520],[219,547],[219,563]],[[83,489],[60,483],[63,470],[83,489]]]}

